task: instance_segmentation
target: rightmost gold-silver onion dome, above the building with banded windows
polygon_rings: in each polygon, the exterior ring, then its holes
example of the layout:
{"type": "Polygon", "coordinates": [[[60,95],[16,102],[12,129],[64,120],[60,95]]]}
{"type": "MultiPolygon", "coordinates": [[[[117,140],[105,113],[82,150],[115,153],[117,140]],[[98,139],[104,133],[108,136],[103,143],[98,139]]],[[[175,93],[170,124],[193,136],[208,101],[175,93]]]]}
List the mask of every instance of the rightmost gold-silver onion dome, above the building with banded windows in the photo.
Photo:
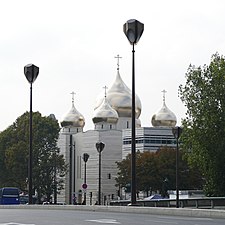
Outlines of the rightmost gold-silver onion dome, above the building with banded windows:
{"type": "Polygon", "coordinates": [[[174,127],[177,123],[175,114],[169,110],[165,103],[165,91],[163,95],[162,108],[152,116],[152,126],[154,127],[174,127]]]}

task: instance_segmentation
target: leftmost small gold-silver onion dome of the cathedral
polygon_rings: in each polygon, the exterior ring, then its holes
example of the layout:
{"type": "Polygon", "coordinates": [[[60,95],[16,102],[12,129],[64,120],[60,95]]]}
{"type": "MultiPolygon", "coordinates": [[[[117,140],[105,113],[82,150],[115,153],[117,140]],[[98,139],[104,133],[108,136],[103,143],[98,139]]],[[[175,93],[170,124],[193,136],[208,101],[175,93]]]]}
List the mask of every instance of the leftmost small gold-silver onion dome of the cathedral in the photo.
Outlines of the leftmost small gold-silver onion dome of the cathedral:
{"type": "Polygon", "coordinates": [[[72,101],[72,108],[67,112],[62,120],[61,126],[62,127],[84,127],[85,119],[81,113],[77,111],[74,106],[74,101],[72,101]]]}

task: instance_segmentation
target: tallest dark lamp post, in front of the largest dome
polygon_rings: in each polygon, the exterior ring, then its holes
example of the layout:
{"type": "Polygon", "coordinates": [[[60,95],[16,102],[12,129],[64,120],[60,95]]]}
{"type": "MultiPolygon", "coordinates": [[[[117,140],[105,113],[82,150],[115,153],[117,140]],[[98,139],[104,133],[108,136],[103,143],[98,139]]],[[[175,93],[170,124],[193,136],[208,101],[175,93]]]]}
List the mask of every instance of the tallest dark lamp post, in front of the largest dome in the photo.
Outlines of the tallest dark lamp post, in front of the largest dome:
{"type": "Polygon", "coordinates": [[[128,20],[123,25],[123,31],[127,36],[132,50],[132,127],[131,127],[131,205],[136,205],[136,143],[135,143],[135,63],[134,63],[134,45],[138,43],[144,31],[144,24],[138,20],[128,20]]]}

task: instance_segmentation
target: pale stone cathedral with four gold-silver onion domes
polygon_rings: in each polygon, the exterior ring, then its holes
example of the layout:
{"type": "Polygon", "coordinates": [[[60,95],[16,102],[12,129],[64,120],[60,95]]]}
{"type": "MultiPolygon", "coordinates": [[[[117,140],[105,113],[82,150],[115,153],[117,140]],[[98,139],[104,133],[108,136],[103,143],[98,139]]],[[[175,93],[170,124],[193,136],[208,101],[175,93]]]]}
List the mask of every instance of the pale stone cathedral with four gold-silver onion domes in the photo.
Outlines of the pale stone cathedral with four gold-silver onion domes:
{"type": "MultiPolygon", "coordinates": [[[[105,87],[104,96],[96,99],[92,121],[93,130],[83,131],[84,116],[74,105],[72,93],[71,109],[60,122],[58,146],[65,156],[69,172],[65,177],[64,190],[58,195],[58,201],[67,204],[96,204],[99,192],[99,163],[101,163],[101,202],[121,197],[121,190],[116,187],[117,161],[131,153],[131,113],[132,93],[123,82],[119,65],[111,87],[105,87]],[[96,143],[103,142],[101,162],[96,143]],[[88,154],[88,161],[84,161],[88,154]]],[[[161,146],[175,146],[172,127],[176,125],[175,114],[169,110],[163,91],[162,108],[152,116],[152,127],[142,127],[141,101],[135,97],[136,151],[157,151],[161,146]]]]}

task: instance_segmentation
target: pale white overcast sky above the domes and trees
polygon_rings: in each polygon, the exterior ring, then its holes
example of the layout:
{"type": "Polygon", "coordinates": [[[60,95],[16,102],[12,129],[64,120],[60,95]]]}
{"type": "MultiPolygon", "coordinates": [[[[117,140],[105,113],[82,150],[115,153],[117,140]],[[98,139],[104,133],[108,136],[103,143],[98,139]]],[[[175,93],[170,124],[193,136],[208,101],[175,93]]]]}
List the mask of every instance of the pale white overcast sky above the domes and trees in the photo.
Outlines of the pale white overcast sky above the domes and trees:
{"type": "Polygon", "coordinates": [[[143,127],[166,105],[177,125],[186,108],[178,97],[190,64],[203,66],[225,51],[223,0],[0,0],[0,131],[30,109],[24,66],[39,67],[33,111],[61,121],[71,108],[94,128],[96,99],[117,74],[131,89],[132,46],[123,33],[129,19],[144,23],[135,46],[135,90],[143,127]]]}

